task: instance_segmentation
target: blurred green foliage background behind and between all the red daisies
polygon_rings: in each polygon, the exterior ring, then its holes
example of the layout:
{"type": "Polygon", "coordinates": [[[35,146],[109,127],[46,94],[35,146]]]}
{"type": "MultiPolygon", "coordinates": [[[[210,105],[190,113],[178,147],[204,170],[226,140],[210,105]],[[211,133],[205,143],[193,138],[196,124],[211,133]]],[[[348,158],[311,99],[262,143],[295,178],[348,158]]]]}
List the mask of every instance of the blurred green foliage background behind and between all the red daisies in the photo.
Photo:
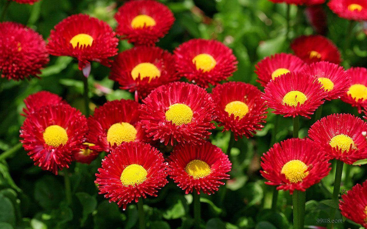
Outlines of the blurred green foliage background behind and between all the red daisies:
{"type": "MultiPolygon", "coordinates": [[[[254,74],[255,64],[278,52],[290,52],[289,40],[302,34],[315,33],[306,21],[305,7],[291,6],[289,37],[286,32],[286,5],[273,4],[268,0],[184,0],[161,1],[174,12],[176,21],[170,32],[157,46],[172,51],[191,38],[217,39],[233,49],[239,61],[238,71],[230,80],[244,81],[259,86],[254,74]]],[[[5,0],[0,0],[1,8],[5,0]]],[[[7,21],[28,25],[43,35],[45,39],[59,21],[69,15],[86,13],[116,27],[113,15],[123,1],[112,0],[41,0],[34,5],[12,2],[8,8],[7,21]]],[[[324,4],[328,30],[326,36],[342,49],[345,44],[348,21],[338,18],[324,4]]],[[[342,53],[343,65],[366,66],[367,43],[362,25],[353,27],[351,45],[342,53]]],[[[131,45],[120,41],[123,51],[131,45]]],[[[94,109],[107,100],[132,99],[132,95],[122,91],[108,79],[109,69],[98,63],[92,64],[89,79],[90,107],[94,109]],[[96,88],[102,85],[105,93],[96,88]]],[[[77,69],[76,60],[69,57],[51,56],[50,64],[42,71],[41,79],[29,81],[7,81],[0,79],[0,151],[12,149],[19,142],[19,128],[24,118],[20,116],[26,96],[41,90],[62,96],[73,107],[84,111],[83,82],[77,69]]],[[[259,88],[261,88],[259,86],[259,88]]],[[[262,89],[262,88],[261,88],[262,89]]],[[[270,111],[269,111],[270,112],[270,111]]],[[[323,116],[337,112],[357,114],[356,109],[340,100],[327,101],[323,116]]],[[[231,180],[226,182],[214,195],[201,195],[203,227],[207,229],[287,229],[292,226],[292,208],[289,192],[280,191],[278,210],[270,210],[273,187],[266,186],[260,176],[260,157],[270,144],[274,115],[269,114],[265,128],[250,139],[239,140],[229,152],[233,163],[231,180]]],[[[290,118],[282,118],[276,140],[291,137],[290,118]]],[[[301,118],[300,137],[306,136],[311,119],[301,118]]],[[[220,128],[213,130],[211,141],[224,152],[230,134],[220,128]]],[[[23,148],[16,147],[14,154],[6,158],[0,156],[0,228],[135,228],[137,208],[130,204],[122,211],[115,203],[108,203],[98,195],[94,184],[95,173],[105,154],[91,165],[73,163],[66,173],[71,176],[73,202],[65,201],[64,183],[61,173],[54,176],[33,166],[32,160],[23,148]]],[[[342,183],[343,192],[353,184],[366,178],[365,166],[347,167],[350,169],[348,182],[342,183]]],[[[345,174],[345,173],[344,173],[345,174]]],[[[343,178],[344,180],[345,178],[343,178]]],[[[317,224],[317,219],[328,218],[334,180],[333,170],[323,179],[323,184],[312,186],[306,193],[305,225],[317,224]]],[[[152,229],[181,228],[192,226],[192,195],[184,195],[172,180],[158,192],[158,197],[145,200],[148,225],[152,229]]],[[[331,206],[330,206],[331,205],[331,206]]],[[[359,228],[340,213],[343,223],[337,228],[359,228]]]]}

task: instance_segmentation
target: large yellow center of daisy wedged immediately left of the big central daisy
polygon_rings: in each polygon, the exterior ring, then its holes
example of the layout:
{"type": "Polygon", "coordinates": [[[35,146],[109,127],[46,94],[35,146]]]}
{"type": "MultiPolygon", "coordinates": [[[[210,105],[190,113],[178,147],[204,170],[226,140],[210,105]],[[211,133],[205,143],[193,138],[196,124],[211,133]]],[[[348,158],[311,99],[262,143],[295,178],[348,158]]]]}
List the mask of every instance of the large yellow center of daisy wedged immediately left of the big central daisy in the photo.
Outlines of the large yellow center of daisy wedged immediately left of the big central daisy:
{"type": "Polygon", "coordinates": [[[107,141],[111,145],[135,141],[136,137],[137,130],[127,122],[115,123],[107,131],[107,141]]]}

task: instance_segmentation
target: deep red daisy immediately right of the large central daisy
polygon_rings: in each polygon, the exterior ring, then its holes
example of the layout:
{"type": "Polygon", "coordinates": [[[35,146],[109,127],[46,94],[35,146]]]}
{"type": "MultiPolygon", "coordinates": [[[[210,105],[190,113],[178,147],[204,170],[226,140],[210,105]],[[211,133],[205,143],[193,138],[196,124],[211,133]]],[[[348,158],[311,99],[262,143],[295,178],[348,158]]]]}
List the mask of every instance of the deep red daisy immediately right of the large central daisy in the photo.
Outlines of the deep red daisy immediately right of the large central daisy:
{"type": "Polygon", "coordinates": [[[244,82],[228,82],[212,90],[215,119],[218,126],[231,130],[237,137],[252,137],[256,130],[264,128],[266,106],[261,91],[244,82]]]}

